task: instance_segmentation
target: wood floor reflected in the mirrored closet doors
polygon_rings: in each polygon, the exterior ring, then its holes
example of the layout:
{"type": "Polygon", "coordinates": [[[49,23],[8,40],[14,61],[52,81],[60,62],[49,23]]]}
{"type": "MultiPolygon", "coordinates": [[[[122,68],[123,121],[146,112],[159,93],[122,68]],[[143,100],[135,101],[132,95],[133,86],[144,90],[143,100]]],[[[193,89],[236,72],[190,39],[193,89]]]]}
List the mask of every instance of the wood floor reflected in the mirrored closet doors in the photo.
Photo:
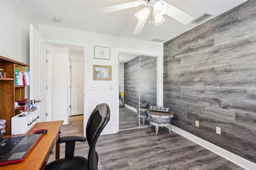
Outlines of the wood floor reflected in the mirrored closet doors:
{"type": "MultiPolygon", "coordinates": [[[[148,118],[144,125],[149,125],[148,118]]],[[[140,119],[140,126],[143,126],[142,118],[140,119]]],[[[127,128],[139,127],[137,112],[128,109],[127,107],[119,107],[119,130],[127,128]]]]}

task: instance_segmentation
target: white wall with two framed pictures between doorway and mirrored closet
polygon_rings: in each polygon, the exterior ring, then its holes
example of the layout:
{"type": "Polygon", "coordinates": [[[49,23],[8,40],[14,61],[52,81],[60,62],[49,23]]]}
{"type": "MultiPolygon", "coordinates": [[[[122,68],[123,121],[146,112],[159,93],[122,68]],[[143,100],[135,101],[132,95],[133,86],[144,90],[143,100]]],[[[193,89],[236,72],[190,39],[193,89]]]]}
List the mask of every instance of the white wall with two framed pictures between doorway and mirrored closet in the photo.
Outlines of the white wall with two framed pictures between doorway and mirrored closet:
{"type": "MultiPolygon", "coordinates": [[[[103,34],[94,34],[78,30],[70,30],[53,26],[39,25],[39,32],[42,37],[46,38],[46,42],[66,42],[74,44],[84,44],[86,46],[84,59],[85,67],[85,113],[84,123],[86,125],[88,116],[99,103],[107,103],[110,107],[110,121],[102,134],[118,132],[116,121],[116,107],[118,105],[119,87],[116,85],[116,50],[127,49],[128,51],[138,51],[139,53],[153,53],[163,56],[163,44],[156,42],[146,42],[129,38],[121,38],[115,36],[107,36],[103,34]],[[94,45],[102,47],[110,47],[110,60],[94,59],[94,45]],[[111,65],[112,66],[112,81],[93,81],[92,80],[92,65],[111,65]],[[88,86],[95,86],[96,91],[88,91],[88,86]],[[110,91],[112,86],[112,91],[110,91]]],[[[132,33],[131,33],[132,34],[132,33]]],[[[86,128],[86,126],[84,126],[86,128]]],[[[85,131],[85,130],[84,130],[85,131]]]]}

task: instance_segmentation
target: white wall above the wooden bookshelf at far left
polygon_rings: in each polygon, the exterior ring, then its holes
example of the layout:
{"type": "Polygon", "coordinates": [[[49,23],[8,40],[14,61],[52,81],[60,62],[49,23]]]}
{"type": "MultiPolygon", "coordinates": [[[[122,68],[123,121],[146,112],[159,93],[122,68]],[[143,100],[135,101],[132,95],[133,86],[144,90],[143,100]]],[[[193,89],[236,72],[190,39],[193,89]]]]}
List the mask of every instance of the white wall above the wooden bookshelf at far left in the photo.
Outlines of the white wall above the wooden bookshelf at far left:
{"type": "MultiPolygon", "coordinates": [[[[0,55],[29,64],[29,24],[38,28],[22,1],[0,0],[0,55]]],[[[29,99],[29,86],[25,97],[29,99]]]]}

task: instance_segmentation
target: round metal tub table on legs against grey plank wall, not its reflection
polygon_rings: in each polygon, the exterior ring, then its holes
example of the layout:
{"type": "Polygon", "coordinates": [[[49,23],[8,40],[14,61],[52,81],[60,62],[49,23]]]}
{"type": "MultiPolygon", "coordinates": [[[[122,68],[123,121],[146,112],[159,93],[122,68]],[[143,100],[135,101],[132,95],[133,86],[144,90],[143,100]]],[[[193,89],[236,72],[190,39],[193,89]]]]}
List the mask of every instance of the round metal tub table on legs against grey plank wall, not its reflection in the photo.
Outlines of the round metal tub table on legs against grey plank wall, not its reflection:
{"type": "Polygon", "coordinates": [[[150,127],[151,125],[156,126],[156,135],[158,132],[158,127],[169,127],[169,132],[171,133],[170,130],[170,123],[173,118],[174,113],[170,111],[170,113],[164,113],[164,112],[156,112],[156,111],[147,111],[148,113],[148,118],[149,118],[149,123],[150,127]]]}

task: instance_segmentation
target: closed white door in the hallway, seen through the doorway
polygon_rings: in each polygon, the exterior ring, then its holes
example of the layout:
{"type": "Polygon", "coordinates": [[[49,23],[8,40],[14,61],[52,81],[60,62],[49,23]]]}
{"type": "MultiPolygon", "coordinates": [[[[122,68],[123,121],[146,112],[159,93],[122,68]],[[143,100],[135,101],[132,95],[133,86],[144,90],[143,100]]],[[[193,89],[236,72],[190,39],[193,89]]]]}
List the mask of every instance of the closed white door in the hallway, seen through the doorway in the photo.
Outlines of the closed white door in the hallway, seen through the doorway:
{"type": "Polygon", "coordinates": [[[84,63],[71,61],[71,116],[84,113],[84,63]]]}

